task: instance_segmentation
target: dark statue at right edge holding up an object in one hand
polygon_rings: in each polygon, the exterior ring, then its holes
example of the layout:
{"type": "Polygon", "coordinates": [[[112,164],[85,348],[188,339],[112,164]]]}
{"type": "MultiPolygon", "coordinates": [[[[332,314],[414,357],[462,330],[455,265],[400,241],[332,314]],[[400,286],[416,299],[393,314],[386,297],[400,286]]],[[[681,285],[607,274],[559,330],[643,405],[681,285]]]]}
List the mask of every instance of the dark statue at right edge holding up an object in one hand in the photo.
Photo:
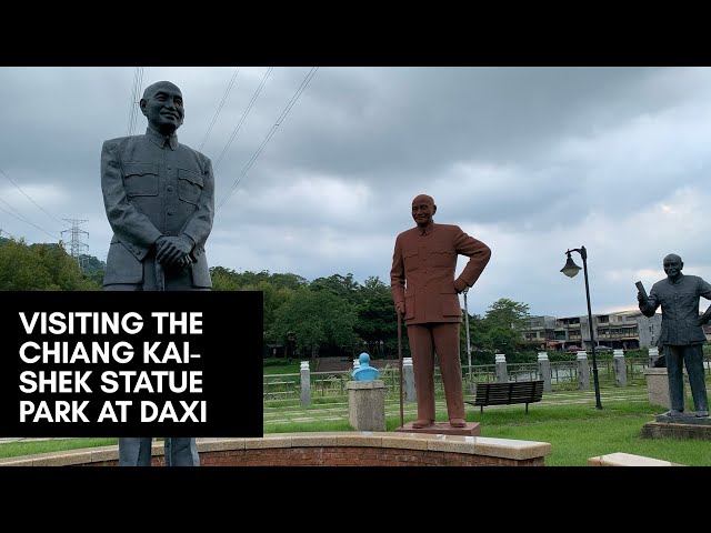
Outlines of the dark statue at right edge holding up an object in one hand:
{"type": "Polygon", "coordinates": [[[699,316],[699,298],[711,300],[711,285],[698,275],[681,273],[684,263],[679,255],[670,253],[663,262],[667,279],[652,286],[649,298],[638,292],[640,311],[653,316],[662,306],[662,332],[659,343],[667,360],[669,416],[681,416],[684,411],[682,363],[687,365],[691,395],[697,416],[709,415],[709,399],[703,373],[703,343],[707,338],[703,324],[711,320],[711,306],[699,316]]]}

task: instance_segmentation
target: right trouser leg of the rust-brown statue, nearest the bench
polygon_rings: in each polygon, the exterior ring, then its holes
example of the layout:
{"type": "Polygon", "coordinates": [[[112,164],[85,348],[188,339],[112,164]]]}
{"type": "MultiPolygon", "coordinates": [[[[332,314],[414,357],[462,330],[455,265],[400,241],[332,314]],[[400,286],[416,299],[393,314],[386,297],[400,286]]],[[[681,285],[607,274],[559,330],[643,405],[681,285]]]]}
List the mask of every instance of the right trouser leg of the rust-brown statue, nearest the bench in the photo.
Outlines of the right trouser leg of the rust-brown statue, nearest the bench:
{"type": "Polygon", "coordinates": [[[464,393],[462,389],[462,366],[459,361],[459,324],[441,323],[432,326],[434,352],[442,374],[447,414],[449,419],[464,418],[464,393]]]}

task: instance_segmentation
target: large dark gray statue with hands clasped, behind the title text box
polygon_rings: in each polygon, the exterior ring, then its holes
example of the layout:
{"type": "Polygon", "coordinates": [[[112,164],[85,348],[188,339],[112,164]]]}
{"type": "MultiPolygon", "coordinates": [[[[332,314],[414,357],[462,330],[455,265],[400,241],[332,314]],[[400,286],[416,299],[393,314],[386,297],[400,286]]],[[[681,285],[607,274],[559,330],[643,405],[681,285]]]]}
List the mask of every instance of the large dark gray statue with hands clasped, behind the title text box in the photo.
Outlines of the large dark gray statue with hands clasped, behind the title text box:
{"type": "MultiPolygon", "coordinates": [[[[214,215],[212,163],[180,144],[184,117],[180,89],[159,81],[143,91],[143,135],[121,137],[101,149],[101,190],[113,238],[106,291],[209,291],[204,243],[214,215]]],[[[193,438],[167,438],[166,464],[199,466],[193,438]]],[[[149,466],[151,438],[119,439],[119,464],[149,466]]]]}

